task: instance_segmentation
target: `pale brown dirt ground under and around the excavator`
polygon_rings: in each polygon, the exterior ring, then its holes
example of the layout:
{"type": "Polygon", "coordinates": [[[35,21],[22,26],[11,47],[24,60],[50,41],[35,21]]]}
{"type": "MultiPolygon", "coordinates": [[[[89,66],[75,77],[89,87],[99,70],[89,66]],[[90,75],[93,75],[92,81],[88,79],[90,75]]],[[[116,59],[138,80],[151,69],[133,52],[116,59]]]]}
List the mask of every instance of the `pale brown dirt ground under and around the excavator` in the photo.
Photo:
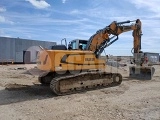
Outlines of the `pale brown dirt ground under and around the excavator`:
{"type": "Polygon", "coordinates": [[[35,65],[0,65],[1,120],[160,120],[160,66],[153,80],[128,78],[120,86],[56,96],[30,71],[35,65]],[[29,70],[29,71],[28,71],[29,70]]]}

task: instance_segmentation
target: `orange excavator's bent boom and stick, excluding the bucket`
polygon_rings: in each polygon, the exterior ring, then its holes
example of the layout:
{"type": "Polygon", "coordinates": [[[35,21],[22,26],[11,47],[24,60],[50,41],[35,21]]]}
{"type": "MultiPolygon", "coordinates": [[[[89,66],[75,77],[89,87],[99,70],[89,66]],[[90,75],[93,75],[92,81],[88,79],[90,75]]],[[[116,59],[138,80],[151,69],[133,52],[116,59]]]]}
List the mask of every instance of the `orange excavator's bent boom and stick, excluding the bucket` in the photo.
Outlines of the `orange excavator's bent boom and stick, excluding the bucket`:
{"type": "Polygon", "coordinates": [[[133,30],[133,50],[134,53],[139,53],[141,50],[141,21],[139,19],[135,21],[124,21],[124,22],[112,22],[109,26],[98,30],[94,35],[92,35],[86,46],[86,50],[93,51],[96,57],[103,52],[104,48],[108,47],[112,43],[118,40],[118,35],[123,32],[128,32],[133,30]],[[135,22],[135,23],[133,23],[135,22]],[[130,25],[126,25],[132,23],[130,25]]]}

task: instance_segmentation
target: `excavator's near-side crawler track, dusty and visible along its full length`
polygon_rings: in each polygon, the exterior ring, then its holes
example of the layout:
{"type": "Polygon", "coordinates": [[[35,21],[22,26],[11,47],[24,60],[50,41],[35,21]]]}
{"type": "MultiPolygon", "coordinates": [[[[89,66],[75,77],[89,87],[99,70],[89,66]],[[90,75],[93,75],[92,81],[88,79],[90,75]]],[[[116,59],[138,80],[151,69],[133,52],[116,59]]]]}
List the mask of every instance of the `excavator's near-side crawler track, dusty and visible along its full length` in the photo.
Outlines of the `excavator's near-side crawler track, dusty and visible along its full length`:
{"type": "Polygon", "coordinates": [[[85,72],[77,75],[53,78],[51,90],[57,95],[67,95],[121,84],[122,76],[118,73],[85,72]]]}

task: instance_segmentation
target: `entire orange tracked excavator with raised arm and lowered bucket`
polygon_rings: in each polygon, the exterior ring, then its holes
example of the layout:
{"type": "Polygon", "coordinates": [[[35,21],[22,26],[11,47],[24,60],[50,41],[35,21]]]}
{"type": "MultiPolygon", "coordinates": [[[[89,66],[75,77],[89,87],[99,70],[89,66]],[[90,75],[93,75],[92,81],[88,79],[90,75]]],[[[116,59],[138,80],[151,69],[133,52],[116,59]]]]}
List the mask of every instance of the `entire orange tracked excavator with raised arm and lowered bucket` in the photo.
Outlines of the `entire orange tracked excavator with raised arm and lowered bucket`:
{"type": "Polygon", "coordinates": [[[98,30],[89,40],[76,39],[67,45],[55,45],[44,49],[37,56],[37,68],[43,71],[39,76],[41,84],[49,84],[56,95],[67,95],[81,91],[117,86],[122,82],[120,73],[106,72],[106,61],[100,58],[103,50],[118,40],[121,33],[133,31],[133,57],[130,77],[152,79],[154,68],[143,66],[141,51],[142,23],[134,21],[113,21],[98,30]]]}

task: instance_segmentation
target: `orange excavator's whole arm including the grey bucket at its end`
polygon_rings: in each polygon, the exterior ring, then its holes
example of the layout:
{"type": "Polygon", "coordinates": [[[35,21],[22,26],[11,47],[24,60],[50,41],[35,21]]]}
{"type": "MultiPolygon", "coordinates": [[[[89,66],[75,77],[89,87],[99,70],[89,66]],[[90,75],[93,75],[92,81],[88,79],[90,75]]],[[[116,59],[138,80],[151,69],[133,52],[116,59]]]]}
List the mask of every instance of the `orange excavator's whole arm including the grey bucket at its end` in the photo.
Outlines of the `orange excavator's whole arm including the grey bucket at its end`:
{"type": "Polygon", "coordinates": [[[130,77],[137,79],[152,79],[154,67],[144,66],[144,54],[141,52],[142,23],[135,21],[112,22],[109,26],[98,30],[89,39],[86,49],[93,51],[98,58],[103,50],[118,40],[121,33],[133,31],[133,59],[136,66],[130,66],[130,77]]]}

